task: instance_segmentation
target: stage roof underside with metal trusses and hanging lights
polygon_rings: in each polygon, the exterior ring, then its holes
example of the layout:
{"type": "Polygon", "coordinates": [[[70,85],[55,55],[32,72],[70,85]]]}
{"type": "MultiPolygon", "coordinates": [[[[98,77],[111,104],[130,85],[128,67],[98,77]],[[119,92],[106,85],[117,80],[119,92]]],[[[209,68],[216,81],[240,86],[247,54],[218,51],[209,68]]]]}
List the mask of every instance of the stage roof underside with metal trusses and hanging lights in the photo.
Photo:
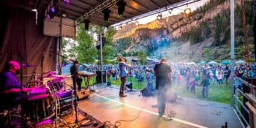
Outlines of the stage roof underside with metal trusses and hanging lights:
{"type": "MultiPolygon", "coordinates": [[[[68,18],[76,20],[78,24],[82,23],[84,19],[88,19],[96,25],[110,26],[146,12],[188,0],[125,0],[127,5],[123,18],[118,17],[117,1],[119,0],[70,0],[70,4],[65,4],[63,0],[58,0],[57,6],[60,12],[67,12],[68,18]],[[102,10],[106,7],[111,10],[109,23],[105,23],[103,20],[102,10]]],[[[45,12],[49,4],[49,0],[29,0],[29,8],[32,10],[37,7],[39,12],[45,12]]]]}

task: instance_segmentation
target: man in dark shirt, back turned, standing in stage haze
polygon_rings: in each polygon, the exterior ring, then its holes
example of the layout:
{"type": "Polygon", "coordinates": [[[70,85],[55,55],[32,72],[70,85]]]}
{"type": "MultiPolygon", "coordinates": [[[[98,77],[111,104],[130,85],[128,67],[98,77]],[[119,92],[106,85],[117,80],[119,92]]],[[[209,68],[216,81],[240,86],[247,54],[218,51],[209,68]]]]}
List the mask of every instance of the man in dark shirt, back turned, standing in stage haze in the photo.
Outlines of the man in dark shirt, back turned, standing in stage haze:
{"type": "Polygon", "coordinates": [[[156,89],[157,89],[157,107],[159,116],[165,113],[165,102],[167,86],[169,86],[171,80],[171,69],[166,64],[166,59],[161,59],[159,64],[154,67],[154,75],[156,76],[156,89]]]}

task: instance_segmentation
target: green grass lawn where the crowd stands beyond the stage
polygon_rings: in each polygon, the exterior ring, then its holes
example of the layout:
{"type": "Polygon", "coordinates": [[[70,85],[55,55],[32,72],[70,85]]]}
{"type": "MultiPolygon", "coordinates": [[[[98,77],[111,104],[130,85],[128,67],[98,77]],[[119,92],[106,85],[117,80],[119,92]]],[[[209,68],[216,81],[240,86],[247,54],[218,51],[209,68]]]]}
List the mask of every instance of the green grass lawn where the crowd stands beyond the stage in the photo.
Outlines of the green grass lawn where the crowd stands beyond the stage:
{"type": "MultiPolygon", "coordinates": [[[[107,80],[108,81],[108,80],[107,80]]],[[[144,78],[144,81],[142,83],[138,83],[138,80],[135,77],[127,78],[127,82],[132,81],[132,88],[133,89],[144,89],[146,87],[146,78],[144,78]]],[[[95,80],[90,80],[90,85],[92,85],[95,82],[95,80]]],[[[84,86],[83,81],[83,86],[84,86]]],[[[199,82],[200,84],[200,82],[199,82]]],[[[120,86],[121,80],[111,80],[111,85],[120,86]]],[[[155,85],[154,85],[155,86],[155,85]]],[[[185,87],[185,80],[181,79],[181,86],[177,86],[176,83],[172,84],[172,91],[176,92],[178,96],[181,97],[189,97],[189,98],[195,98],[195,99],[203,99],[213,102],[222,102],[230,104],[230,86],[225,86],[225,84],[219,85],[218,83],[212,83],[209,87],[208,92],[208,99],[203,98],[202,96],[202,86],[196,86],[195,87],[195,93],[192,94],[190,90],[187,90],[185,87]]]]}

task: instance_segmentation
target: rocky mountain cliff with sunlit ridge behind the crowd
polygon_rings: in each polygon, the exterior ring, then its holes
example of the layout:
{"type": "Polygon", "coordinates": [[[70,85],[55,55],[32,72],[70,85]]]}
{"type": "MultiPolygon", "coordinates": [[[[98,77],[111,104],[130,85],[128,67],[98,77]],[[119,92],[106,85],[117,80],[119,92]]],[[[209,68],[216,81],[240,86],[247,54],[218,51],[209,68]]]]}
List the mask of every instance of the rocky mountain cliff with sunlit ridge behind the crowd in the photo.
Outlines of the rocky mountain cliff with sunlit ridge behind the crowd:
{"type": "MultiPolygon", "coordinates": [[[[211,59],[228,59],[230,57],[228,39],[225,45],[214,47],[212,45],[214,42],[214,18],[223,12],[229,11],[230,1],[227,0],[222,2],[222,4],[217,4],[214,1],[211,2],[211,7],[200,7],[189,17],[181,13],[171,15],[162,20],[154,20],[151,23],[140,26],[129,23],[123,26],[121,31],[117,32],[114,40],[121,48],[120,44],[125,43],[121,42],[121,39],[127,38],[126,42],[129,45],[123,49],[126,53],[144,50],[149,56],[161,55],[172,61],[200,61],[206,59],[206,54],[209,53],[217,55],[211,59]],[[203,12],[203,10],[205,11],[203,12]],[[193,43],[183,39],[182,35],[186,35],[189,31],[202,27],[203,23],[208,23],[208,29],[210,29],[208,36],[200,39],[200,42],[193,43]]],[[[238,0],[236,0],[236,5],[239,5],[238,0]]],[[[229,26],[225,27],[229,28],[229,26]]],[[[200,30],[203,30],[200,34],[205,33],[205,29],[200,30]]],[[[227,35],[221,34],[220,40],[224,39],[225,36],[227,37],[227,35]]]]}

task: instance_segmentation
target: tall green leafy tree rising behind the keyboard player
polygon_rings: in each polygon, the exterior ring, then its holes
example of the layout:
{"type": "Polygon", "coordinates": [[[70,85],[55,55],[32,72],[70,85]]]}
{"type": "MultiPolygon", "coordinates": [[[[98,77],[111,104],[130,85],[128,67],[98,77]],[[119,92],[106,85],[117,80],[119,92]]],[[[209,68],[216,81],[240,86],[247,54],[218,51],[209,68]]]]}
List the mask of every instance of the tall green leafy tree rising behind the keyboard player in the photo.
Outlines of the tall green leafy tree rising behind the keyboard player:
{"type": "Polygon", "coordinates": [[[75,50],[78,52],[78,61],[80,61],[80,63],[93,63],[97,56],[97,50],[93,45],[93,37],[86,32],[83,23],[78,26],[76,39],[78,46],[75,50]]]}

